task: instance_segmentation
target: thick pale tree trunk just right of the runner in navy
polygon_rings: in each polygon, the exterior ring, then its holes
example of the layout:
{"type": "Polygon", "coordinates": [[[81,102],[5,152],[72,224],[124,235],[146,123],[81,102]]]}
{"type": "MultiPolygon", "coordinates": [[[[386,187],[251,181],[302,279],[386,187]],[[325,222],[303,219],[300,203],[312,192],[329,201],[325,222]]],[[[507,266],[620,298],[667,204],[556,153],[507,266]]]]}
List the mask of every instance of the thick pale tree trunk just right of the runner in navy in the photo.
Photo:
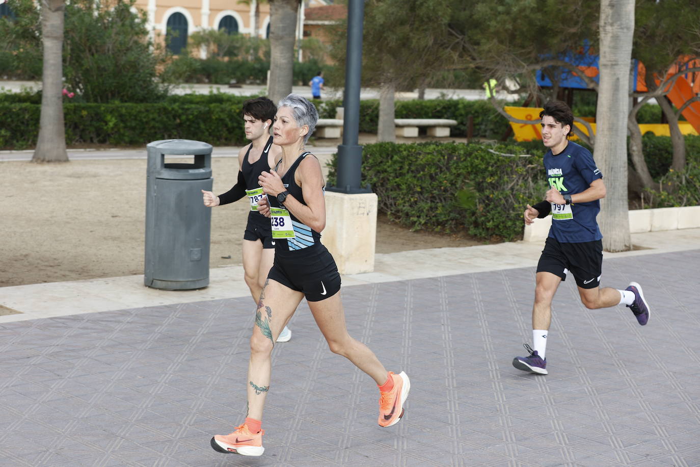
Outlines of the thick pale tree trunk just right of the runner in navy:
{"type": "Polygon", "coordinates": [[[601,0],[601,55],[596,148],[598,167],[606,177],[606,197],[599,216],[603,249],[631,249],[627,205],[627,117],[629,63],[634,32],[634,0],[601,0]]]}

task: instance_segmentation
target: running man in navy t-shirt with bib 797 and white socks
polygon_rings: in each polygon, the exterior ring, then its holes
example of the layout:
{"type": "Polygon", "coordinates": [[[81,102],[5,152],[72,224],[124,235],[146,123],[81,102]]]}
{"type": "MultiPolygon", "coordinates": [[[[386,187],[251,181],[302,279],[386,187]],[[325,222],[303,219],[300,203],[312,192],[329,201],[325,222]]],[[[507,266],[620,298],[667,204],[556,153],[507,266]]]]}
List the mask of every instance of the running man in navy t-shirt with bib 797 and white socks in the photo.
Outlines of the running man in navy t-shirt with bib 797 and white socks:
{"type": "Polygon", "coordinates": [[[549,190],[545,201],[527,205],[526,224],[552,213],[552,228],[537,265],[535,303],[532,309],[533,347],[525,344],[530,355],[515,357],[519,370],[547,375],[545,347],[549,323],[552,321],[552,298],[559,283],[570,272],[578,286],[581,302],[589,309],[614,307],[624,303],[640,325],[649,319],[649,305],[642,288],[631,282],[623,290],[600,287],[603,264],[603,243],[596,216],[605,197],[603,174],[596,167],[591,153],[568,141],[573,135],[573,113],[559,101],[547,102],[540,112],[542,141],[549,190]]]}

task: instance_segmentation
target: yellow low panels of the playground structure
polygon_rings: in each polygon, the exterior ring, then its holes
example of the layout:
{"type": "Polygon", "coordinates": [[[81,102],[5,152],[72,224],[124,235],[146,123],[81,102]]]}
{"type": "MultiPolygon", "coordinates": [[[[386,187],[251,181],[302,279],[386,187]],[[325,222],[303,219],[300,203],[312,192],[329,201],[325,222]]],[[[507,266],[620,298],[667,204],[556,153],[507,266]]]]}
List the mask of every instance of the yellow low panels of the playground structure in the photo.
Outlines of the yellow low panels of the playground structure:
{"type": "MultiPolygon", "coordinates": [[[[503,109],[508,115],[513,116],[518,120],[533,120],[533,123],[510,123],[510,127],[513,129],[513,133],[515,135],[515,141],[533,141],[535,139],[542,139],[542,134],[540,133],[540,112],[542,111],[542,107],[505,106],[503,109]]],[[[591,130],[593,130],[595,134],[595,119],[591,117],[580,118],[589,122],[589,125],[591,125],[591,130]]],[[[580,122],[574,122],[573,124],[584,134],[588,134],[588,128],[586,125],[580,122]]],[[[679,122],[678,127],[680,128],[680,132],[682,134],[698,134],[690,123],[679,122]]],[[[664,123],[641,123],[639,125],[639,130],[642,132],[642,134],[652,132],[653,134],[657,135],[657,137],[667,137],[671,135],[670,130],[668,130],[668,125],[664,123]]],[[[575,140],[577,137],[573,136],[571,139],[575,140]]]]}

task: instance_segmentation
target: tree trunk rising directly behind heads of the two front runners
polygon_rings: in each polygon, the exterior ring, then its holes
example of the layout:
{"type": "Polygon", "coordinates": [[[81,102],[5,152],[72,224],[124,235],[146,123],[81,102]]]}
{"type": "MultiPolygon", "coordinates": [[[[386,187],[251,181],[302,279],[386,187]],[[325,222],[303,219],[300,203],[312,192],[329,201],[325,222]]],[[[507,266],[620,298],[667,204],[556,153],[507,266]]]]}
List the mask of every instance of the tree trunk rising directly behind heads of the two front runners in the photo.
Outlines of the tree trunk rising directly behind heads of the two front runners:
{"type": "Polygon", "coordinates": [[[275,104],[292,92],[294,42],[300,0],[269,1],[269,89],[275,104]]]}

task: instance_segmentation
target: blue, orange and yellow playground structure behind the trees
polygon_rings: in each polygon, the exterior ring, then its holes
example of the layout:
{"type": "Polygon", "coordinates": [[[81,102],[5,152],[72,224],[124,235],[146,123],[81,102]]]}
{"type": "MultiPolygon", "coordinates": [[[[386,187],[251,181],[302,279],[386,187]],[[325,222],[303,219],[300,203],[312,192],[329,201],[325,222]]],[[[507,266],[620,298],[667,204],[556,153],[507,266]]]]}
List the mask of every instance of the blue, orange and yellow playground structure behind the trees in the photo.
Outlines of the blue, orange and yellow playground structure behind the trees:
{"type": "MultiPolygon", "coordinates": [[[[598,55],[594,55],[590,50],[578,50],[577,53],[570,53],[565,57],[565,60],[575,64],[577,69],[580,69],[580,73],[589,78],[593,78],[598,81],[598,55]]],[[[694,67],[700,67],[700,60],[683,60],[683,57],[679,57],[678,64],[672,67],[667,74],[667,77],[675,76],[683,69],[690,69],[694,67]]],[[[645,83],[645,67],[644,64],[637,61],[637,66],[634,70],[634,90],[636,92],[647,91],[647,85],[645,83]]],[[[552,86],[552,81],[549,80],[544,71],[540,70],[537,73],[538,85],[542,88],[547,88],[552,86]]],[[[656,79],[657,83],[660,83],[659,79],[656,79]]],[[[559,86],[561,88],[570,89],[588,89],[586,83],[578,76],[578,74],[567,71],[561,74],[559,79],[559,86]]],[[[671,103],[676,109],[680,109],[686,102],[691,100],[693,97],[700,93],[700,73],[689,72],[682,74],[675,79],[675,81],[669,84],[671,88],[668,90],[666,95],[671,103]]],[[[667,88],[668,89],[668,88],[667,88]]],[[[506,113],[519,120],[533,120],[533,123],[510,123],[510,127],[513,130],[514,138],[516,141],[533,141],[535,139],[542,139],[540,134],[540,111],[541,107],[515,107],[515,106],[505,106],[503,108],[506,113]]],[[[700,134],[700,102],[692,102],[683,109],[681,112],[682,116],[685,117],[687,121],[680,121],[678,127],[682,134],[700,134]]],[[[594,117],[579,117],[585,120],[588,125],[590,125],[591,130],[596,132],[596,123],[594,117]]],[[[575,122],[574,125],[578,127],[584,134],[589,134],[589,129],[587,125],[583,123],[575,122]]],[[[668,128],[668,124],[665,123],[645,123],[640,124],[639,129],[642,134],[652,132],[657,136],[670,136],[671,132],[668,128]]],[[[576,137],[573,137],[575,139],[576,137]]]]}

